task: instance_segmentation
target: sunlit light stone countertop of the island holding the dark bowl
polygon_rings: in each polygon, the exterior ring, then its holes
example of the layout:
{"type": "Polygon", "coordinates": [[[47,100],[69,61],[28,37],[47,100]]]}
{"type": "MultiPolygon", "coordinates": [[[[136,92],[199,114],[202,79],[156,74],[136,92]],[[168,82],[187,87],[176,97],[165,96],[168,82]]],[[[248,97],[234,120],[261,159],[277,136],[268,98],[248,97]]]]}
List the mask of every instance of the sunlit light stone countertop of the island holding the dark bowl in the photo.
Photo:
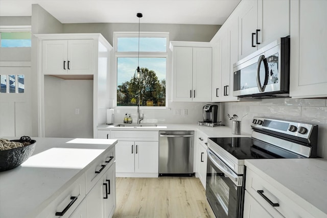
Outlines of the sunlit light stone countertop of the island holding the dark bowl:
{"type": "MultiPolygon", "coordinates": [[[[17,139],[6,137],[7,139],[17,139]]],[[[117,140],[37,138],[33,155],[0,172],[0,217],[29,217],[79,178],[117,140]]]]}

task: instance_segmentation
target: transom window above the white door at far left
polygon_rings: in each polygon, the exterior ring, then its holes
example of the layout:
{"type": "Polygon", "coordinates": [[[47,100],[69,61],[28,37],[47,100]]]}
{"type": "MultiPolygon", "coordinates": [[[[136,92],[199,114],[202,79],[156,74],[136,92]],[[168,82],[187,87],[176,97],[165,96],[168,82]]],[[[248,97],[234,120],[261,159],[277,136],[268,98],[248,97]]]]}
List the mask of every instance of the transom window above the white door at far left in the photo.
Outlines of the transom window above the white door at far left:
{"type": "Polygon", "coordinates": [[[26,27],[0,27],[1,47],[31,47],[31,29],[26,27]]]}

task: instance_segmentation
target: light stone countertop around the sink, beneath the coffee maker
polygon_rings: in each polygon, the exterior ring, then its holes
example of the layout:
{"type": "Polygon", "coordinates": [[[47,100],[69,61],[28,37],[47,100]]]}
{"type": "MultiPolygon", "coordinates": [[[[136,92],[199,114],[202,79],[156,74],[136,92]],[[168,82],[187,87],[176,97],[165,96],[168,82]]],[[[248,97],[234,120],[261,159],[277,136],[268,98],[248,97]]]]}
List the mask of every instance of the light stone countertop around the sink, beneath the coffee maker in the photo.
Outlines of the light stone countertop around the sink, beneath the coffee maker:
{"type": "Polygon", "coordinates": [[[114,127],[113,125],[98,126],[98,130],[132,130],[132,131],[201,131],[208,137],[250,137],[250,133],[241,132],[241,135],[231,133],[231,128],[227,126],[205,127],[197,124],[157,124],[157,127],[114,127]]]}

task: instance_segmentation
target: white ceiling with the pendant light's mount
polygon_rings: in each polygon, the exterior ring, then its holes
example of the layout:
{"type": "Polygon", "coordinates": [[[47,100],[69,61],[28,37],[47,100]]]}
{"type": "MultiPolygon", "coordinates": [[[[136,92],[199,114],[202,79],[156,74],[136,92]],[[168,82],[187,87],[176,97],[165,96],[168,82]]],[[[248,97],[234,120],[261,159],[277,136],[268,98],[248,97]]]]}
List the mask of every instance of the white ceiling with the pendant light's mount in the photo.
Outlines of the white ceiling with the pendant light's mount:
{"type": "Polygon", "coordinates": [[[0,16],[31,16],[32,4],[62,23],[222,25],[240,0],[0,0],[0,16]]]}

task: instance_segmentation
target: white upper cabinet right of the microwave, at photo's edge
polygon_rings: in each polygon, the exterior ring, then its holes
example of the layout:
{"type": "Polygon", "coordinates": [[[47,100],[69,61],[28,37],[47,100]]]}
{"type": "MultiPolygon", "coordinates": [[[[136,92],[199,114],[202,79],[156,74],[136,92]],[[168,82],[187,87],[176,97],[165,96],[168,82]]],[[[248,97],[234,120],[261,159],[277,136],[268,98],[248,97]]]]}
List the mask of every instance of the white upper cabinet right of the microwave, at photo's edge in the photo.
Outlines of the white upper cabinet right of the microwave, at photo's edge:
{"type": "Polygon", "coordinates": [[[327,96],[327,1],[291,1],[290,96],[327,96]]]}

